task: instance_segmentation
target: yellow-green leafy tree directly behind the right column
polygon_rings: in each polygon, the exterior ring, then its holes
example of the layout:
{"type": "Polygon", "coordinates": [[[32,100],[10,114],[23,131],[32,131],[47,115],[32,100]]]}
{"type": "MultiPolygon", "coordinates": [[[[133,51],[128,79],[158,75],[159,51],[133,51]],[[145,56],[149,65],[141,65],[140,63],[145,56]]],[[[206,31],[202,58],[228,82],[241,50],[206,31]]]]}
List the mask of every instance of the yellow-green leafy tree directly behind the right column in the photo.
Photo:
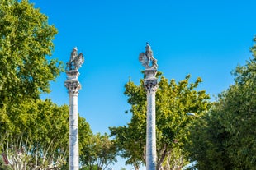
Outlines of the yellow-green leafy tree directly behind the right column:
{"type": "MultiPolygon", "coordinates": [[[[186,163],[183,144],[187,141],[187,126],[193,121],[186,113],[201,115],[211,105],[205,90],[195,90],[201,79],[190,84],[189,79],[188,75],[177,84],[164,76],[160,78],[156,93],[157,169],[183,167],[186,163]]],[[[125,94],[131,105],[131,121],[127,126],[111,127],[111,136],[116,137],[121,157],[138,169],[145,163],[146,92],[143,81],[140,85],[129,81],[125,94]]]]}

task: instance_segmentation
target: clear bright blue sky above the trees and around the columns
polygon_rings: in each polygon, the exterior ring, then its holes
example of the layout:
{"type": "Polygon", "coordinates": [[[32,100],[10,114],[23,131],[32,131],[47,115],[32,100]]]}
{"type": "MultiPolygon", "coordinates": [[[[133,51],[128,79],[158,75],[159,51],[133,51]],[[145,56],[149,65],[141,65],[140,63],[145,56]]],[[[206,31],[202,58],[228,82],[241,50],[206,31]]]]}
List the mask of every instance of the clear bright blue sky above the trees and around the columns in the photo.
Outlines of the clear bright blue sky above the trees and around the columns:
{"type": "MultiPolygon", "coordinates": [[[[78,112],[93,132],[130,122],[123,94],[129,80],[139,83],[138,61],[149,42],[159,71],[169,80],[200,76],[200,89],[214,95],[233,83],[230,72],[251,56],[256,34],[255,0],[31,0],[49,16],[59,34],[54,58],[68,62],[73,47],[85,57],[78,112]]],[[[44,95],[69,104],[63,73],[44,95]]]]}

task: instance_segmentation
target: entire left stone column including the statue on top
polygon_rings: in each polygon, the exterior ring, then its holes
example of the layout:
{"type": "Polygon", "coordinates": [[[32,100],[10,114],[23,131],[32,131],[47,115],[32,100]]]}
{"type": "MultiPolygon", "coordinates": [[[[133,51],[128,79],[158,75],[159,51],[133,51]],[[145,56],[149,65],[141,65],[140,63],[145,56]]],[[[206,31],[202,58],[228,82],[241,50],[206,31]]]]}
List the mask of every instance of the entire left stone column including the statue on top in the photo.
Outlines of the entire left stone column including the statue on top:
{"type": "Polygon", "coordinates": [[[78,68],[83,64],[83,54],[77,54],[77,48],[73,48],[69,62],[67,62],[67,80],[65,87],[69,90],[69,170],[79,169],[78,148],[78,90],[81,85],[78,81],[78,68]]]}

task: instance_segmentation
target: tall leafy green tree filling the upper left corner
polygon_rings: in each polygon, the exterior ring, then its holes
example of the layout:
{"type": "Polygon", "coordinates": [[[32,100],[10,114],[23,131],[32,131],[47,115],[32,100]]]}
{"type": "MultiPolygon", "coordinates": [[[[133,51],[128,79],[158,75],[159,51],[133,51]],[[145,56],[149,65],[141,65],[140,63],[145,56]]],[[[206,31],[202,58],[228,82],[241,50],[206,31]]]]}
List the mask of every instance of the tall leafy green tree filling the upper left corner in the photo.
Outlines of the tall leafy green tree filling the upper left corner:
{"type": "Polygon", "coordinates": [[[1,0],[0,131],[8,127],[8,105],[39,99],[50,92],[50,80],[63,71],[62,64],[49,58],[55,34],[47,16],[27,0],[1,0]]]}

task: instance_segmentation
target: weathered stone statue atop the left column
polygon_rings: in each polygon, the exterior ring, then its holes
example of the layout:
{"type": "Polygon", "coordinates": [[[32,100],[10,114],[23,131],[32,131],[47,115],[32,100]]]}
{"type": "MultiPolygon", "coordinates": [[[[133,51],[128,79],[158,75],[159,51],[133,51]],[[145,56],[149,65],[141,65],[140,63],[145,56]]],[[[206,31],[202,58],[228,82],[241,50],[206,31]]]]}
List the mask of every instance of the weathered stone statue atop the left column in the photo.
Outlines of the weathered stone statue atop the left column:
{"type": "Polygon", "coordinates": [[[78,48],[73,48],[69,62],[67,62],[66,71],[78,70],[84,62],[83,53],[78,54],[78,48]]]}

